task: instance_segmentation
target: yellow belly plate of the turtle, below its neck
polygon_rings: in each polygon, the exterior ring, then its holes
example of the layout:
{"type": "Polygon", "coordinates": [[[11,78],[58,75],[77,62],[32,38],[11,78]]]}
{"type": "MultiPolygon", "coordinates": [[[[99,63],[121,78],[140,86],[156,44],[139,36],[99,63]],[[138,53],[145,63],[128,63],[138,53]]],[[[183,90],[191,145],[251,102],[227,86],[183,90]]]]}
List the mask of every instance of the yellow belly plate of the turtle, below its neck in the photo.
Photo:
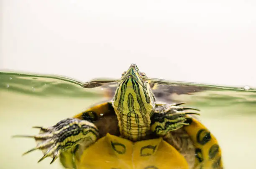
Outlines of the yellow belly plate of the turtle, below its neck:
{"type": "Polygon", "coordinates": [[[131,142],[111,134],[84,150],[79,169],[189,169],[184,157],[163,139],[131,142]]]}

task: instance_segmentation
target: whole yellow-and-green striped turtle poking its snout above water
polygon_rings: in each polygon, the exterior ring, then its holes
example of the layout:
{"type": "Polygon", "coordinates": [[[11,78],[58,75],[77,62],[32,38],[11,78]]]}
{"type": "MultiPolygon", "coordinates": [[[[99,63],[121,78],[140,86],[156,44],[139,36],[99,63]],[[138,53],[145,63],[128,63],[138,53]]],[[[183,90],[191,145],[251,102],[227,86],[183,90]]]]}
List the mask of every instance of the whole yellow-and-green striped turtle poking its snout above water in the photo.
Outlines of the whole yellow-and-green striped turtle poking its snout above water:
{"type": "MultiPolygon", "coordinates": [[[[94,88],[113,83],[91,81],[94,88]]],[[[184,102],[157,102],[152,90],[157,80],[135,64],[123,72],[112,99],[62,119],[38,134],[36,147],[59,157],[66,169],[223,169],[215,136],[196,117],[199,109],[184,102]]],[[[163,83],[162,83],[163,84],[163,83]]]]}

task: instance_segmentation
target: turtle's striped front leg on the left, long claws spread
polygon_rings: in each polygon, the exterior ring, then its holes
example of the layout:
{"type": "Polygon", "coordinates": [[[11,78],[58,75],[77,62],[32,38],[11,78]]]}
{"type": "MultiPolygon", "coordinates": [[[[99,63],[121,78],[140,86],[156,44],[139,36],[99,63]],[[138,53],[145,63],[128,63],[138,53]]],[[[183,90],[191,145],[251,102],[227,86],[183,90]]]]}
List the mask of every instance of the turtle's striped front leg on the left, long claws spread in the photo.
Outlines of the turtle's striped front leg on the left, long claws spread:
{"type": "Polygon", "coordinates": [[[52,157],[52,163],[59,157],[61,152],[66,152],[74,148],[84,140],[86,140],[87,145],[90,145],[94,143],[99,136],[99,131],[93,123],[76,118],[61,120],[51,127],[34,128],[40,129],[39,134],[34,136],[20,135],[16,137],[32,137],[36,140],[36,147],[24,154],[36,149],[42,150],[44,156],[38,162],[41,162],[46,157],[52,157]]]}

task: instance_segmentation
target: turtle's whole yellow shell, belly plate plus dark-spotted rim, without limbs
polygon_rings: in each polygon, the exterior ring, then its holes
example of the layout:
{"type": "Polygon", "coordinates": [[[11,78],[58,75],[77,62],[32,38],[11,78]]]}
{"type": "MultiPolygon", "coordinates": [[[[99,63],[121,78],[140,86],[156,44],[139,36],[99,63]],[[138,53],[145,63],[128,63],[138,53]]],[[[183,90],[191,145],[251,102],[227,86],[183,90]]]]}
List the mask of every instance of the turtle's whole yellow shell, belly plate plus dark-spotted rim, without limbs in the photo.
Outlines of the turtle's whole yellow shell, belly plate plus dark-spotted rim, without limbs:
{"type": "MultiPolygon", "coordinates": [[[[78,169],[223,168],[221,149],[217,139],[195,118],[188,121],[188,126],[182,127],[182,130],[185,131],[184,134],[189,136],[195,148],[195,156],[192,158],[195,159],[195,162],[191,166],[184,158],[186,154],[190,154],[191,157],[191,152],[184,152],[184,150],[181,152],[175,145],[172,145],[172,142],[169,142],[168,139],[170,138],[154,138],[131,142],[128,139],[118,137],[118,123],[110,102],[95,105],[75,116],[75,118],[81,119],[85,114],[97,117],[95,124],[99,129],[102,129],[100,131],[102,137],[89,147],[79,149],[80,155],[76,160],[78,169]],[[101,112],[105,112],[102,117],[101,112]]],[[[61,159],[63,158],[61,157],[61,159]]],[[[64,163],[67,164],[67,162],[62,162],[63,165],[64,163]]]]}

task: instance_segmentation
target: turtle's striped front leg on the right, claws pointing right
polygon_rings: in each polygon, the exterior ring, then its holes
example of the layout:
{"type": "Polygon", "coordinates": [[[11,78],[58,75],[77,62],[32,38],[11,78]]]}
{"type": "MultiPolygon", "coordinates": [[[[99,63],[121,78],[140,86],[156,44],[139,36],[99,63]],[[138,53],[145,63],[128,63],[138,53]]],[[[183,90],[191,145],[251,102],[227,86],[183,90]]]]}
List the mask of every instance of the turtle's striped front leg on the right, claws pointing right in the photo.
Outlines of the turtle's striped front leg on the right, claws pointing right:
{"type": "Polygon", "coordinates": [[[156,107],[156,111],[151,117],[151,131],[156,135],[164,137],[169,132],[180,129],[183,126],[189,125],[187,120],[192,117],[188,114],[197,114],[197,112],[191,112],[186,110],[197,110],[192,107],[181,107],[177,104],[161,104],[156,107]]]}

